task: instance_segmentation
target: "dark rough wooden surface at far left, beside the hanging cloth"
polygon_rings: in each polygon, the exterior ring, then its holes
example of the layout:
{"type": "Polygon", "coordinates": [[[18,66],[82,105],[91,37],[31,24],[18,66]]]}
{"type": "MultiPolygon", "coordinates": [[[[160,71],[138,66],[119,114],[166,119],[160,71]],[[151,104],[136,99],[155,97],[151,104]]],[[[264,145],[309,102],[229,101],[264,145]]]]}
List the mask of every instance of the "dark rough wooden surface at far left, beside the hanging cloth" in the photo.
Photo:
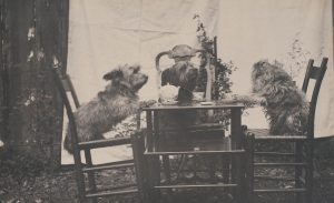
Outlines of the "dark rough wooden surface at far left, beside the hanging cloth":
{"type": "Polygon", "coordinates": [[[66,67],[69,0],[0,2],[1,132],[10,150],[57,168],[62,104],[48,69],[66,67]]]}

